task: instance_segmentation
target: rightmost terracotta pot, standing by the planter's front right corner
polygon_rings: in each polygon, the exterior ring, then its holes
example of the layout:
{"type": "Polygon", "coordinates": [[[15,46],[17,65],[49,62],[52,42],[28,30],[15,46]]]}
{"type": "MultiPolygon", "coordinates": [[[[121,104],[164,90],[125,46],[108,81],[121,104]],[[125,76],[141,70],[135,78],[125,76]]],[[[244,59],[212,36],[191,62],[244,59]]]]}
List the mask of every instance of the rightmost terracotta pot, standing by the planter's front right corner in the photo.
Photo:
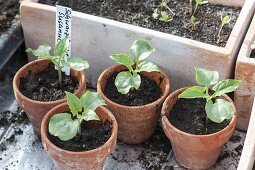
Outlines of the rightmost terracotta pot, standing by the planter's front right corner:
{"type": "Polygon", "coordinates": [[[166,136],[170,139],[175,158],[184,167],[190,169],[207,169],[217,160],[222,146],[228,142],[233,134],[237,121],[236,107],[227,96],[222,98],[231,102],[235,113],[229,125],[213,134],[193,135],[175,128],[168,120],[169,112],[178,100],[178,95],[186,88],[171,93],[162,107],[162,125],[166,136]]]}

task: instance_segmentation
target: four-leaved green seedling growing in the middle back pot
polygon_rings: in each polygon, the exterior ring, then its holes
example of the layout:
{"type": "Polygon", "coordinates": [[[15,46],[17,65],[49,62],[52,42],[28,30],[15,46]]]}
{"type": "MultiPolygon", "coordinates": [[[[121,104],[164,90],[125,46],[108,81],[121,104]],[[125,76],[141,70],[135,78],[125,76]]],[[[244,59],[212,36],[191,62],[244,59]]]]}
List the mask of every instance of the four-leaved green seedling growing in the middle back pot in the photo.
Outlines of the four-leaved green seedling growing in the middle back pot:
{"type": "Polygon", "coordinates": [[[141,85],[140,72],[160,72],[160,69],[149,61],[143,61],[155,51],[146,40],[136,40],[131,45],[127,54],[112,54],[110,58],[127,67],[128,71],[120,72],[115,79],[115,86],[122,94],[127,94],[130,89],[138,89],[141,85]]]}

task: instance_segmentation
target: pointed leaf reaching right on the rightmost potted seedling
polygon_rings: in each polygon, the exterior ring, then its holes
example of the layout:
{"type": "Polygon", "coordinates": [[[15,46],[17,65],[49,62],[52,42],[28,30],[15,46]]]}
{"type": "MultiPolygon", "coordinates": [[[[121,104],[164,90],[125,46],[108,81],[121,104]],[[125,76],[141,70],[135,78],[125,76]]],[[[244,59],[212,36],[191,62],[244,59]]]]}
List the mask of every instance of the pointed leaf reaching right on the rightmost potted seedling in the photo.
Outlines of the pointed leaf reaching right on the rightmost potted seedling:
{"type": "Polygon", "coordinates": [[[242,81],[241,80],[222,80],[214,85],[213,87],[213,97],[221,96],[226,93],[230,93],[232,91],[235,91],[240,85],[242,81]]]}

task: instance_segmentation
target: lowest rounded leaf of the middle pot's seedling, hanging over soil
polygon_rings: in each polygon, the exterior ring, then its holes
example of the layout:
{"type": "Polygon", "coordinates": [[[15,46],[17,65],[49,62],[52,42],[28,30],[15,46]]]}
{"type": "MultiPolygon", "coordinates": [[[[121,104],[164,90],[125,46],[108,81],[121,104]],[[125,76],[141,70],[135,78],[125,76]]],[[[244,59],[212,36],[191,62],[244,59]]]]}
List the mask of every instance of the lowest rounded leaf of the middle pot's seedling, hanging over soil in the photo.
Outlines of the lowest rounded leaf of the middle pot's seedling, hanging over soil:
{"type": "Polygon", "coordinates": [[[123,71],[117,75],[115,85],[120,93],[127,94],[131,88],[137,90],[140,87],[141,77],[139,74],[132,75],[129,71],[123,71]]]}

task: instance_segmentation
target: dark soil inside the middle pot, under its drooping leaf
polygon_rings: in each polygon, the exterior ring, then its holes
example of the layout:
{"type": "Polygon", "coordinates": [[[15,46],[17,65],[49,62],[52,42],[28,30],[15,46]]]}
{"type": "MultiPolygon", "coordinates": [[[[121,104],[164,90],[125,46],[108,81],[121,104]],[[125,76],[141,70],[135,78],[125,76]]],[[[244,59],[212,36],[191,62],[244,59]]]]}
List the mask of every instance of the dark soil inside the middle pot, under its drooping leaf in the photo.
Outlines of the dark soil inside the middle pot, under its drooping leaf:
{"type": "Polygon", "coordinates": [[[114,82],[118,73],[113,73],[107,80],[104,94],[110,100],[125,106],[141,106],[152,103],[162,96],[156,82],[141,75],[141,85],[138,90],[131,89],[128,94],[118,92],[114,82]]]}

